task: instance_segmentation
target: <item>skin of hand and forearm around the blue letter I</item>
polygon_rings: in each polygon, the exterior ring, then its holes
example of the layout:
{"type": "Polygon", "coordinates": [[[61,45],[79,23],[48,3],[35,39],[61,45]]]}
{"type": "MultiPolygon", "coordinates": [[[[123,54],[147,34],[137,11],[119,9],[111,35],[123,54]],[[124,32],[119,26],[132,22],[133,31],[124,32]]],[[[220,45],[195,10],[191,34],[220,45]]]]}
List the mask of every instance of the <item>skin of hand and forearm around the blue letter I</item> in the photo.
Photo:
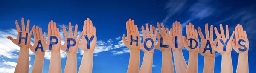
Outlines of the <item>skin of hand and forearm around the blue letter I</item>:
{"type": "Polygon", "coordinates": [[[182,28],[180,22],[175,21],[175,23],[172,23],[169,38],[170,45],[173,51],[175,71],[176,73],[186,73],[187,65],[182,53],[184,43],[182,38],[182,28]],[[175,36],[177,36],[177,48],[175,47],[175,36]]]}

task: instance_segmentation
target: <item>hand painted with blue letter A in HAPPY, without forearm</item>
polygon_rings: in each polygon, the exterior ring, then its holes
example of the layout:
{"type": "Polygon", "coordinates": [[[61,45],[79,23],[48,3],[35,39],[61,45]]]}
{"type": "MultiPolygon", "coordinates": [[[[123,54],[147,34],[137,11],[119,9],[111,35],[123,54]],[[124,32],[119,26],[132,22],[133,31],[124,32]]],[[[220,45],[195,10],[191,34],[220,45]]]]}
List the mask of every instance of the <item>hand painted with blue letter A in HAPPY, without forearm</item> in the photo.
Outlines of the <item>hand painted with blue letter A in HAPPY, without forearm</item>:
{"type": "Polygon", "coordinates": [[[35,54],[44,55],[45,54],[46,34],[44,32],[44,38],[43,38],[42,28],[39,28],[39,31],[38,31],[38,26],[36,26],[36,28],[34,28],[33,32],[34,32],[34,45],[33,46],[30,45],[29,48],[35,54]]]}

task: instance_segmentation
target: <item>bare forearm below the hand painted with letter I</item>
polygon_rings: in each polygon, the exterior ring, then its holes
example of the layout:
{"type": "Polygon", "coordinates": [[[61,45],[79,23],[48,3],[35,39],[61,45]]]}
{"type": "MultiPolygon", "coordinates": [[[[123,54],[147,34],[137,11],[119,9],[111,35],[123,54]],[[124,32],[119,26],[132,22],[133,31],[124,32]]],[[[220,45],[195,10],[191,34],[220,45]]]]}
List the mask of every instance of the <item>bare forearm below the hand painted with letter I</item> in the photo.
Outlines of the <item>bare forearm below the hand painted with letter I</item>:
{"type": "Polygon", "coordinates": [[[176,73],[186,73],[187,65],[182,50],[173,51],[176,73]]]}

